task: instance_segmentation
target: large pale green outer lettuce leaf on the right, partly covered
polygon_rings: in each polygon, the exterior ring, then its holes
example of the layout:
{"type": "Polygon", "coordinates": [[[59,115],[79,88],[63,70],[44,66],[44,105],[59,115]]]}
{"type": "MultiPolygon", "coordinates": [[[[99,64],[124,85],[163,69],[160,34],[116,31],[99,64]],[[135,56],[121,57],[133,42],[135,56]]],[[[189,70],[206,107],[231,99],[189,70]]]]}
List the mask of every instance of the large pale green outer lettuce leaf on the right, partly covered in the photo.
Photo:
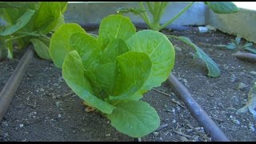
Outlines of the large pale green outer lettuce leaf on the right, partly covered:
{"type": "Polygon", "coordinates": [[[175,58],[174,46],[166,35],[154,30],[141,30],[126,42],[131,51],[147,54],[152,62],[152,70],[142,86],[142,93],[166,81],[174,67],[175,58]]]}

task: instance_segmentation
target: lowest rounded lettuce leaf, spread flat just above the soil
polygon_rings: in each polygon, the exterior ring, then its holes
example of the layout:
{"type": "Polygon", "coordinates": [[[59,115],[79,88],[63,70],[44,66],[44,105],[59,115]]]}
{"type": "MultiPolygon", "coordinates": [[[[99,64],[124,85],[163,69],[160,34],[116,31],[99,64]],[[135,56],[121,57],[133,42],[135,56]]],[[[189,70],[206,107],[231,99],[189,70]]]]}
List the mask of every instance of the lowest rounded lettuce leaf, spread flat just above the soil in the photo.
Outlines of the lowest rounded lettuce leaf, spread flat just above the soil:
{"type": "Polygon", "coordinates": [[[107,114],[111,125],[123,134],[141,138],[150,134],[160,125],[156,110],[146,102],[123,102],[116,106],[112,114],[107,114]]]}

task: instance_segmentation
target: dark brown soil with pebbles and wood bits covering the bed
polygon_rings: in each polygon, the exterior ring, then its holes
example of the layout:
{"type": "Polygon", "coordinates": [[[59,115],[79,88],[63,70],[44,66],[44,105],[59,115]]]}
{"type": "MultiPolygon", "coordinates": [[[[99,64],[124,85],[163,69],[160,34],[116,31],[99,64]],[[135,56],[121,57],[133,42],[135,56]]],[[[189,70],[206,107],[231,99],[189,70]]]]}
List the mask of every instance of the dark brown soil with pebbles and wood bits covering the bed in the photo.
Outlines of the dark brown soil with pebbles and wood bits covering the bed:
{"type": "MultiPolygon", "coordinates": [[[[98,30],[86,31],[96,34],[98,30]]],[[[190,38],[218,63],[221,76],[209,78],[206,66],[192,59],[191,48],[183,42],[171,40],[174,46],[182,48],[182,51],[176,52],[173,74],[230,141],[255,141],[256,122],[252,114],[236,114],[236,110],[245,105],[247,94],[256,79],[255,64],[234,58],[231,54],[235,51],[212,46],[227,44],[235,37],[219,31],[203,34],[197,31],[162,32],[190,38]],[[239,82],[246,84],[243,90],[238,90],[239,82]]],[[[9,59],[0,62],[1,90],[17,64],[9,59]],[[2,71],[2,68],[6,70],[2,71]]],[[[34,58],[2,120],[0,140],[134,141],[134,138],[110,126],[110,122],[98,112],[86,112],[82,99],[70,92],[62,78],[62,71],[53,62],[34,58]]],[[[142,101],[149,102],[158,111],[162,127],[142,138],[142,141],[211,141],[190,111],[182,107],[184,104],[167,82],[147,92],[142,101]]]]}

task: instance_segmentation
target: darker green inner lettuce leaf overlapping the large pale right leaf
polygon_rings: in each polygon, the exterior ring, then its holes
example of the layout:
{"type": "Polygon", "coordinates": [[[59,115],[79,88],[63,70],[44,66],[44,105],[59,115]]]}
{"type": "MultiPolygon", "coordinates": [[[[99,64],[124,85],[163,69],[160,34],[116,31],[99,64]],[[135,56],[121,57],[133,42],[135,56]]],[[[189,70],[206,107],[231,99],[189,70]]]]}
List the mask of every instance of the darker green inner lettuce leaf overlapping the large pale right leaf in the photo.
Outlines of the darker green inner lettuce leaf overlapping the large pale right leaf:
{"type": "Polygon", "coordinates": [[[152,62],[147,54],[130,51],[119,55],[118,79],[110,100],[126,99],[138,91],[149,77],[152,62]]]}

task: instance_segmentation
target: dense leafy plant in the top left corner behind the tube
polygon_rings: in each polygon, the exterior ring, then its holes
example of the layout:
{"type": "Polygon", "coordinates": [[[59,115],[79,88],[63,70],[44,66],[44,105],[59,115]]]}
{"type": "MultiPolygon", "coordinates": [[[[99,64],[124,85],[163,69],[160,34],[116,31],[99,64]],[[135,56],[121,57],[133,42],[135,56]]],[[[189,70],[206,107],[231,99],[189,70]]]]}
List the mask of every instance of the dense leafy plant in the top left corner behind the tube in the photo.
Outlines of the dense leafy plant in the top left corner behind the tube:
{"type": "MultiPolygon", "coordinates": [[[[0,18],[5,23],[0,38],[13,58],[13,48],[19,50],[30,42],[38,56],[50,59],[50,34],[65,21],[67,2],[0,2],[0,18]]],[[[1,48],[3,49],[3,48],[1,48]]]]}

